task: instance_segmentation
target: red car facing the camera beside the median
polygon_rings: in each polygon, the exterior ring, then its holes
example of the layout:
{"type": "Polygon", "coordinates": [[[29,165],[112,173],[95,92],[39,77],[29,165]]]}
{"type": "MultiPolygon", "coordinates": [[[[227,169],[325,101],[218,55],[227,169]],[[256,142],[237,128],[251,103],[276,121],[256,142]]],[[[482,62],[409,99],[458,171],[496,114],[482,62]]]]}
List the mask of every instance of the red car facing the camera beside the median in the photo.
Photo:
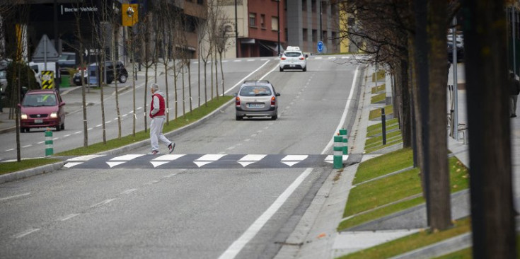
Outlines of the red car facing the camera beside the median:
{"type": "Polygon", "coordinates": [[[55,127],[57,131],[65,129],[65,103],[56,89],[30,90],[25,93],[21,108],[21,132],[31,128],[55,127]]]}

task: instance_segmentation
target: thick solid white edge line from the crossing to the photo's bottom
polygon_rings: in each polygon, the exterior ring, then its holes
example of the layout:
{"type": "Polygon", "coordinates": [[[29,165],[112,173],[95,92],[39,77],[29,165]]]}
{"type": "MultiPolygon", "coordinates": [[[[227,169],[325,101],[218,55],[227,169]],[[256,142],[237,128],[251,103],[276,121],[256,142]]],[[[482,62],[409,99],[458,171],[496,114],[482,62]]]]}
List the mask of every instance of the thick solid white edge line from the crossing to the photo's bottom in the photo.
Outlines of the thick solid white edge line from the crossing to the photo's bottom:
{"type": "Polygon", "coordinates": [[[284,205],[284,202],[289,199],[292,192],[298,188],[298,186],[304,182],[305,178],[313,171],[313,168],[306,168],[306,170],[301,173],[301,175],[294,180],[291,185],[287,189],[284,190],[284,192],[279,195],[277,200],[272,203],[272,205],[260,216],[258,219],[249,226],[249,228],[242,234],[240,238],[238,238],[236,241],[234,241],[229,248],[222,253],[222,255],[219,256],[219,259],[233,259],[240,253],[240,251],[244,248],[244,246],[251,240],[253,237],[258,234],[260,229],[271,219],[272,215],[274,215],[282,205],[284,205]]]}

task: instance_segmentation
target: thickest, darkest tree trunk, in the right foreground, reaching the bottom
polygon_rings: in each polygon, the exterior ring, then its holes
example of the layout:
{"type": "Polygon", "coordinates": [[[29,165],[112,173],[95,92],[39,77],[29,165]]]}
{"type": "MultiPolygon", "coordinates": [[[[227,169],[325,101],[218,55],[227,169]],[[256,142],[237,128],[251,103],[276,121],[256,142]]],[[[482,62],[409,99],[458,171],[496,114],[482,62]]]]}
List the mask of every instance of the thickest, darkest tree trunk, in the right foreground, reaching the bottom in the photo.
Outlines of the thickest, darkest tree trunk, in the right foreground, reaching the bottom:
{"type": "Polygon", "coordinates": [[[464,1],[462,11],[473,258],[516,258],[504,1],[464,1]]]}

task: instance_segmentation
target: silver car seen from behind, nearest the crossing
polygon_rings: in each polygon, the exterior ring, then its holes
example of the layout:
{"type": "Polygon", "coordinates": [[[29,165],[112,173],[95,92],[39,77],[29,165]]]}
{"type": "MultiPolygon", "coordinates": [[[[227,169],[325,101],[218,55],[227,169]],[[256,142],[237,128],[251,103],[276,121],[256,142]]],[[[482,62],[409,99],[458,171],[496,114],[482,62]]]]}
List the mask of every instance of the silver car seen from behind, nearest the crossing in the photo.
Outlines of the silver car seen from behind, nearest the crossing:
{"type": "Polygon", "coordinates": [[[236,120],[243,117],[278,118],[278,96],[269,81],[244,81],[235,93],[236,120]]]}

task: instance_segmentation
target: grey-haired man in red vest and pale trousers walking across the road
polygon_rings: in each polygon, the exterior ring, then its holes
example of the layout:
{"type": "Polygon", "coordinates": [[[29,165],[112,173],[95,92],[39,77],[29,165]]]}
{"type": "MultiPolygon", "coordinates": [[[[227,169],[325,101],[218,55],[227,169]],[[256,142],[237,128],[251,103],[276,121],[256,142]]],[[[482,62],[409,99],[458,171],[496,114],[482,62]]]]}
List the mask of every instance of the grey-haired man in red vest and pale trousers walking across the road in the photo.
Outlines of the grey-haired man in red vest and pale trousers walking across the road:
{"type": "Polygon", "coordinates": [[[168,144],[168,151],[171,153],[175,149],[175,143],[166,139],[163,135],[163,125],[166,120],[166,105],[164,101],[164,93],[159,91],[158,84],[150,85],[151,91],[151,105],[150,105],[150,142],[151,142],[151,153],[153,155],[159,154],[158,140],[168,144]]]}

